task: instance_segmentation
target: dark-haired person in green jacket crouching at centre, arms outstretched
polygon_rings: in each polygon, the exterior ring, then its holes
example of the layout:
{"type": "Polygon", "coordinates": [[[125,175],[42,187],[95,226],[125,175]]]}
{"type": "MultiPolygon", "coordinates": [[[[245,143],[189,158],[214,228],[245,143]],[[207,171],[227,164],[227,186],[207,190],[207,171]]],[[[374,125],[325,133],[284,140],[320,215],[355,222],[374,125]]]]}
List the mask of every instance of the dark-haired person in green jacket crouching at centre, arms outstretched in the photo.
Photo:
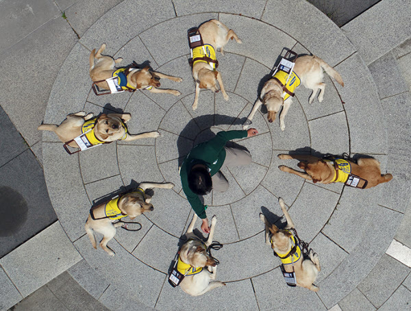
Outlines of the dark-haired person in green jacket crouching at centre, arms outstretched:
{"type": "Polygon", "coordinates": [[[220,172],[222,166],[242,166],[251,163],[249,151],[225,147],[228,140],[256,136],[257,129],[247,131],[221,131],[217,135],[191,149],[182,163],[180,177],[182,187],[191,208],[203,223],[201,229],[209,233],[210,227],[206,215],[206,208],[199,195],[207,195],[211,190],[225,192],[228,182],[220,172]]]}

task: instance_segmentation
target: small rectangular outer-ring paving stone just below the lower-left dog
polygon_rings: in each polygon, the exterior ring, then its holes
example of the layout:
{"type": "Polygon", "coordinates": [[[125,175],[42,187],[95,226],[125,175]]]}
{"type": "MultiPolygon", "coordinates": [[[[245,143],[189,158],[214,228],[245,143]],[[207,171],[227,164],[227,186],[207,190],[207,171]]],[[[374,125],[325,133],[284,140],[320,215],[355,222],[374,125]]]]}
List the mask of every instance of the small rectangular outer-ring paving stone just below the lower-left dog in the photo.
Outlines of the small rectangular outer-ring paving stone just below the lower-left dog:
{"type": "Polygon", "coordinates": [[[87,290],[88,294],[95,297],[95,299],[99,299],[101,294],[103,294],[105,289],[110,285],[110,282],[97,273],[84,259],[71,266],[67,272],[70,273],[71,277],[73,277],[82,288],[87,290]]]}

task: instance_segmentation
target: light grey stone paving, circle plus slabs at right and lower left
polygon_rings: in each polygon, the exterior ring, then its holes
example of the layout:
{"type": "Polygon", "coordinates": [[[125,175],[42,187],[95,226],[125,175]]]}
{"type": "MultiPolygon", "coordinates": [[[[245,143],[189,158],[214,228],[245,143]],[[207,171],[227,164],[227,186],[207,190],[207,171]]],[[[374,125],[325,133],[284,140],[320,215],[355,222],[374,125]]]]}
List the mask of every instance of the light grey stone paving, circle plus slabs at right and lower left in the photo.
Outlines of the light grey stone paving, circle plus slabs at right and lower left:
{"type": "MultiPolygon", "coordinates": [[[[264,0],[249,5],[246,1],[188,4],[164,0],[147,5],[125,0],[100,13],[92,25],[76,22],[78,17],[73,14],[85,14],[91,5],[75,3],[68,8],[66,16],[73,29],[78,25],[79,40],[58,69],[45,123],[60,123],[66,114],[79,110],[95,114],[123,111],[132,114],[127,123],[132,134],[158,130],[161,136],[117,142],[69,156],[58,138],[45,132],[42,163],[59,221],[36,236],[37,240],[1,258],[5,273],[1,271],[4,276],[0,277],[11,279],[18,293],[26,297],[67,270],[111,310],[409,310],[410,263],[386,251],[394,238],[405,251],[411,246],[407,230],[410,175],[403,169],[409,163],[410,86],[403,79],[406,66],[401,65],[410,62],[410,21],[397,40],[390,38],[388,33],[393,29],[387,28],[379,30],[379,44],[371,39],[361,45],[351,43],[365,36],[358,29],[367,29],[367,38],[377,36],[376,30],[367,28],[373,16],[390,10],[400,20],[409,15],[394,9],[403,1],[381,1],[340,29],[310,3],[291,2],[264,0]],[[224,56],[217,53],[229,101],[224,101],[221,93],[201,91],[199,108],[193,111],[195,86],[188,65],[186,31],[210,18],[234,29],[243,43],[230,41],[224,56]],[[179,84],[162,80],[162,88],[175,88],[182,95],[142,90],[97,97],[90,89],[88,55],[103,42],[107,44],[105,53],[124,58],[124,65],[149,61],[155,71],[182,77],[184,81],[179,84]],[[309,104],[310,91],[301,86],[286,116],[284,132],[278,121],[269,124],[266,114],[258,112],[253,119],[258,136],[235,141],[251,152],[253,162],[247,167],[224,169],[229,190],[205,197],[210,206],[208,215],[218,217],[214,240],[224,244],[213,253],[221,262],[217,279],[227,286],[201,297],[188,297],[166,282],[179,236],[192,218],[179,181],[179,163],[194,145],[216,132],[241,129],[263,78],[284,48],[318,55],[342,75],[345,87],[325,77],[323,102],[309,104]],[[393,173],[395,178],[369,190],[314,185],[277,168],[280,164],[295,165],[277,158],[278,153],[295,150],[373,156],[381,162],[382,172],[393,173]],[[142,230],[117,230],[109,242],[116,252],[114,258],[92,249],[84,235],[90,205],[139,182],[173,182],[175,187],[154,190],[153,212],[137,219],[142,230]],[[284,198],[299,236],[319,253],[319,293],[288,288],[279,261],[264,244],[258,214],[264,212],[272,221],[283,221],[279,197],[284,198]],[[39,245],[44,240],[47,245],[39,245]],[[47,253],[49,245],[55,249],[47,253]],[[36,247],[45,254],[36,260],[47,258],[55,271],[38,269],[27,282],[25,269],[34,263],[22,258],[36,247]],[[17,268],[16,262],[25,264],[17,268]]],[[[21,299],[10,288],[10,296],[16,298],[6,300],[7,308],[21,299]],[[10,305],[10,301],[14,303],[10,305]]]]}

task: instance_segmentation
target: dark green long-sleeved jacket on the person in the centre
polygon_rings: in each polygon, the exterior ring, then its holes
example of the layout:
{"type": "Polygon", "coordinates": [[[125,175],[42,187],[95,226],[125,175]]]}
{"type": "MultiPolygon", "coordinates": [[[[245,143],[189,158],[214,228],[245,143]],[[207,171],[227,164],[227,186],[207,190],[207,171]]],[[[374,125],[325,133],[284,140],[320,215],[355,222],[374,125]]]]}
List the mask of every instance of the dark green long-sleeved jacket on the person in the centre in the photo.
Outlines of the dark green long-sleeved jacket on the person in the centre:
{"type": "Polygon", "coordinates": [[[247,131],[219,132],[216,137],[208,140],[208,142],[201,142],[201,144],[192,148],[184,159],[180,170],[183,190],[192,209],[201,219],[207,217],[206,208],[201,203],[199,196],[188,187],[188,172],[190,172],[192,166],[201,163],[208,166],[210,175],[215,175],[221,169],[225,160],[225,143],[228,140],[245,137],[247,137],[247,131]]]}

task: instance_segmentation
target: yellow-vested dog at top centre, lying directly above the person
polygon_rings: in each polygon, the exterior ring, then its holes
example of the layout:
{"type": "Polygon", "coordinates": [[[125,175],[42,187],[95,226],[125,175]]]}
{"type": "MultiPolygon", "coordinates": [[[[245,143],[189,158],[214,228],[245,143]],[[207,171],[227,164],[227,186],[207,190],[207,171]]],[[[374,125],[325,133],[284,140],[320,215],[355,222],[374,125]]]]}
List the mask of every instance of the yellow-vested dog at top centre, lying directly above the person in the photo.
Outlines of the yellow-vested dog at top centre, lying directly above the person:
{"type": "Polygon", "coordinates": [[[229,39],[234,38],[237,43],[242,43],[232,29],[228,29],[227,26],[215,19],[203,23],[199,27],[199,33],[203,39],[204,46],[197,47],[192,51],[192,77],[194,77],[195,80],[195,99],[192,104],[192,110],[197,109],[200,88],[206,88],[213,92],[219,92],[221,88],[225,101],[228,101],[229,97],[225,92],[221,73],[216,71],[218,64],[218,62],[216,62],[216,49],[220,49],[221,54],[224,55],[224,47],[227,45],[229,39]],[[202,60],[204,56],[211,58],[214,62],[202,60]],[[217,82],[219,82],[220,88],[217,82]]]}

